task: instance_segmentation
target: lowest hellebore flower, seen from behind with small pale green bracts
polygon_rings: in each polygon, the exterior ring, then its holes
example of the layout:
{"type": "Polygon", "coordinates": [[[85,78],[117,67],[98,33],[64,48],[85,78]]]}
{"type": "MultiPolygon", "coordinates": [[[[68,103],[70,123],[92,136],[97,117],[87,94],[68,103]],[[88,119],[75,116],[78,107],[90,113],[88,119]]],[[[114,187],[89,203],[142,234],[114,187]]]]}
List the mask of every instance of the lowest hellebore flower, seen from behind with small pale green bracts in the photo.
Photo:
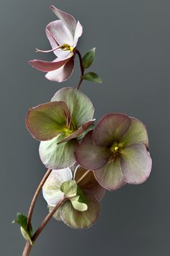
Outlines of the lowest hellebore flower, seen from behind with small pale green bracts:
{"type": "Polygon", "coordinates": [[[81,166],[76,167],[74,174],[70,168],[53,170],[42,187],[50,211],[60,200],[67,198],[53,217],[73,229],[86,229],[97,221],[100,210],[98,201],[105,192],[92,171],[84,176],[86,171],[81,166]]]}

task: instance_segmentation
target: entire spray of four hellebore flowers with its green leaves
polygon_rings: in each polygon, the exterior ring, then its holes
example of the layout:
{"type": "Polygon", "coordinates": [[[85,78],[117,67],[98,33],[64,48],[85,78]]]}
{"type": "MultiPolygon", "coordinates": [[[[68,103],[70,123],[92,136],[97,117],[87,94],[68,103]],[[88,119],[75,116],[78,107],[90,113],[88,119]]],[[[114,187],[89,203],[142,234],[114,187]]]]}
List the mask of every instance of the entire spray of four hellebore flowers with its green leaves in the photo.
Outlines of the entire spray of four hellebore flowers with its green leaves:
{"type": "MultiPolygon", "coordinates": [[[[126,114],[107,114],[94,124],[94,106],[79,88],[83,80],[102,82],[94,72],[84,74],[94,60],[95,48],[81,58],[76,48],[83,32],[80,22],[51,9],[59,19],[46,27],[52,49],[37,51],[53,51],[57,58],[35,59],[30,64],[47,72],[48,80],[63,82],[71,76],[77,54],[81,77],[77,88],[62,88],[50,102],[30,108],[26,125],[40,141],[40,159],[51,171],[42,187],[49,212],[73,229],[85,229],[97,220],[105,189],[146,181],[152,164],[148,135],[141,121],[126,114]]],[[[27,218],[19,216],[16,222],[24,237],[34,242],[27,218]]]]}

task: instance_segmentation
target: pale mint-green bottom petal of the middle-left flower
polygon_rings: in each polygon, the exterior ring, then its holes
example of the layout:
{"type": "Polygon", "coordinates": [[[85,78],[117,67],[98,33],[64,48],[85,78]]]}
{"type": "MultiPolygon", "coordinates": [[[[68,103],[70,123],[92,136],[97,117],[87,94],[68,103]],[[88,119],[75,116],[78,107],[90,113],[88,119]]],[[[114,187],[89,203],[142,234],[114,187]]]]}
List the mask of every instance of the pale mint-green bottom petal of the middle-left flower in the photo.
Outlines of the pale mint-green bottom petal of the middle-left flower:
{"type": "Polygon", "coordinates": [[[40,158],[47,168],[66,168],[76,162],[74,151],[77,140],[73,139],[58,145],[59,140],[61,140],[61,135],[52,140],[40,142],[40,158]]]}

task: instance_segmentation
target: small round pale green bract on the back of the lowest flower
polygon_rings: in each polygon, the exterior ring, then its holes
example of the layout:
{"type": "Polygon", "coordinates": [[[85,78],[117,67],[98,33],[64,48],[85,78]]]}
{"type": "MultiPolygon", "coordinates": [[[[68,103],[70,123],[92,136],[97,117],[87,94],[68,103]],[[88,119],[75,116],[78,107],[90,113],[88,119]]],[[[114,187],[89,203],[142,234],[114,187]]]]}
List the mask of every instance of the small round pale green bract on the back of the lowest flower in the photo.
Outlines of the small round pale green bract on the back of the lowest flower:
{"type": "Polygon", "coordinates": [[[72,180],[72,181],[68,181],[68,182],[63,182],[63,184],[61,184],[61,192],[64,193],[65,197],[69,198],[69,197],[75,197],[77,194],[77,184],[76,181],[72,180]]]}

